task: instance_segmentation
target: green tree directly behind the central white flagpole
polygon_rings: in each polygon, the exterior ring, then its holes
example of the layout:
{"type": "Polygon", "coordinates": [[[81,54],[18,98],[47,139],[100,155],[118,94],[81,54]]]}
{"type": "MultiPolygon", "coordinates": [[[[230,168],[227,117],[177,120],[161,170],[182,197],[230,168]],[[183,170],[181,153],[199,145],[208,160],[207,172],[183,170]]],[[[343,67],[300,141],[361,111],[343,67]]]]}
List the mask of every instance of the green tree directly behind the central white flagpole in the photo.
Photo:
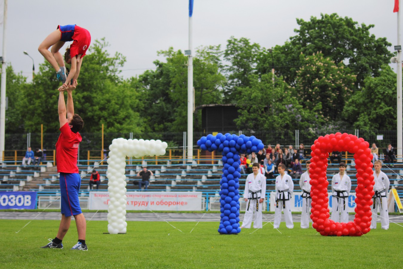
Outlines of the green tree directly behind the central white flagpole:
{"type": "MultiPolygon", "coordinates": [[[[139,76],[141,116],[149,125],[148,131],[186,131],[187,129],[187,57],[169,48],[158,52],[166,63],[156,60],[155,71],[139,76]],[[152,108],[152,109],[151,109],[152,108]]],[[[195,107],[221,102],[221,88],[225,81],[218,71],[217,58],[204,50],[200,58],[193,58],[193,87],[195,107]],[[205,58],[202,58],[205,57],[205,58]]],[[[195,111],[194,129],[201,129],[201,112],[195,111]]]]}

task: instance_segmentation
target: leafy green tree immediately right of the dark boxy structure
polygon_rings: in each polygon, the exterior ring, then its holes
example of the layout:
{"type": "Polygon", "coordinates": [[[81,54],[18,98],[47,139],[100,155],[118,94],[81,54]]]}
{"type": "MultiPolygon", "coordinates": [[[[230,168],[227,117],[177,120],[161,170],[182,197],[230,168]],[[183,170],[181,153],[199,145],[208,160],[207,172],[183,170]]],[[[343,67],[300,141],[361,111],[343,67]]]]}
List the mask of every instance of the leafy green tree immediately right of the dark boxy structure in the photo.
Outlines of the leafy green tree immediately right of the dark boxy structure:
{"type": "Polygon", "coordinates": [[[295,130],[308,129],[323,122],[320,105],[304,108],[298,103],[295,89],[281,78],[273,84],[272,75],[251,75],[250,87],[243,87],[237,96],[239,117],[235,123],[240,129],[295,130]]]}

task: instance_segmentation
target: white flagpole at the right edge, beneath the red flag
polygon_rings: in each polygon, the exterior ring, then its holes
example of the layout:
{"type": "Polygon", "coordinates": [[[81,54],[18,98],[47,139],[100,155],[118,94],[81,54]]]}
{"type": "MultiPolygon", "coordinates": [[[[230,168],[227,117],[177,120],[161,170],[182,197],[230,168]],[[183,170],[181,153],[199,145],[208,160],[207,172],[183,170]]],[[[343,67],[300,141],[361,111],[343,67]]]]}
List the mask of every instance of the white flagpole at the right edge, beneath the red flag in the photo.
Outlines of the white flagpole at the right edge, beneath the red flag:
{"type": "MultiPolygon", "coordinates": [[[[400,39],[400,6],[402,0],[399,0],[399,11],[397,12],[397,45],[401,45],[400,39]]],[[[397,51],[397,157],[403,157],[403,127],[402,127],[402,58],[401,50],[397,51]]],[[[399,162],[402,159],[398,159],[399,162]]]]}

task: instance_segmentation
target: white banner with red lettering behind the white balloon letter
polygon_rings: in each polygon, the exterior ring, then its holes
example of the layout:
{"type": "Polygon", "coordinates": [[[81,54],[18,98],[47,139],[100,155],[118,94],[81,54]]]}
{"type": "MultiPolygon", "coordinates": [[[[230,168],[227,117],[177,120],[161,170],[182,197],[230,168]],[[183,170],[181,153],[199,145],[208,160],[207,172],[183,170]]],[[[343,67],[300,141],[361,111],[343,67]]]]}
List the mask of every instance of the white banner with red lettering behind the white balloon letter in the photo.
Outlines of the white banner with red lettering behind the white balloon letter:
{"type": "MultiPolygon", "coordinates": [[[[127,192],[126,210],[202,211],[202,192],[127,192]]],[[[108,210],[109,192],[89,192],[90,210],[108,210]]]]}

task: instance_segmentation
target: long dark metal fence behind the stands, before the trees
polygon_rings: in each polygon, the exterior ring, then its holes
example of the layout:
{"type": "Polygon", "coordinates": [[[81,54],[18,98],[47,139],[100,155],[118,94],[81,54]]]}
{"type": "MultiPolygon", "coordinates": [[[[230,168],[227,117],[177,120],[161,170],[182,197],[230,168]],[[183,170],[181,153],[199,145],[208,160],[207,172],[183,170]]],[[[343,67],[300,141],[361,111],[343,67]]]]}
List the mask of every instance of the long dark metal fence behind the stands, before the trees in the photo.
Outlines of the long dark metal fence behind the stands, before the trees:
{"type": "MultiPolygon", "coordinates": [[[[388,144],[396,147],[397,131],[395,130],[371,130],[362,131],[353,130],[338,130],[341,133],[352,133],[358,137],[364,138],[370,143],[376,143],[378,148],[386,148],[388,144]],[[382,138],[382,139],[380,139],[382,138]]],[[[334,131],[336,132],[336,131],[334,131]]],[[[310,146],[319,136],[326,135],[324,131],[314,130],[283,130],[283,131],[234,131],[237,135],[244,134],[245,136],[256,136],[262,140],[265,145],[275,145],[279,143],[281,146],[298,146],[300,143],[310,146]]],[[[329,132],[330,133],[330,132],[329,132]]],[[[54,150],[60,133],[44,133],[41,137],[40,133],[18,133],[5,135],[5,150],[22,150],[28,146],[35,148],[45,148],[46,150],[54,150]]],[[[196,145],[197,140],[208,133],[194,132],[193,145],[196,145]]],[[[102,133],[81,133],[83,141],[80,143],[80,151],[108,150],[109,145],[114,138],[126,139],[160,139],[168,143],[168,148],[182,149],[186,146],[186,132],[177,133],[104,133],[104,145],[102,147],[102,133]]]]}

